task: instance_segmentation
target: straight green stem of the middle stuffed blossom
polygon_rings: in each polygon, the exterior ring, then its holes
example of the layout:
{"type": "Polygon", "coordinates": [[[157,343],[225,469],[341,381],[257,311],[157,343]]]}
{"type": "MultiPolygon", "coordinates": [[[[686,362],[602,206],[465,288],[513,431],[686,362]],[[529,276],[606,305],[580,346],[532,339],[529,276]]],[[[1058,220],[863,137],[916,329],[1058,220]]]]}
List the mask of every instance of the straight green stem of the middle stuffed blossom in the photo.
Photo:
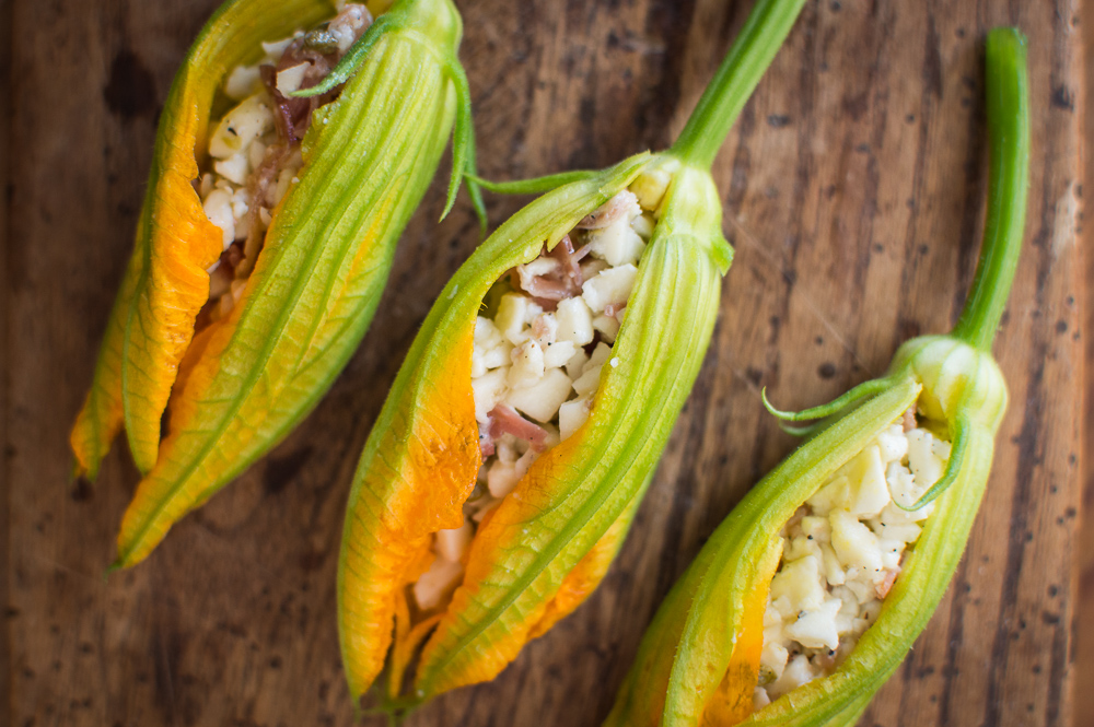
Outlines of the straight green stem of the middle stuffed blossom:
{"type": "Polygon", "coordinates": [[[709,169],[745,102],[787,39],[805,0],[756,0],[672,153],[709,169]]]}

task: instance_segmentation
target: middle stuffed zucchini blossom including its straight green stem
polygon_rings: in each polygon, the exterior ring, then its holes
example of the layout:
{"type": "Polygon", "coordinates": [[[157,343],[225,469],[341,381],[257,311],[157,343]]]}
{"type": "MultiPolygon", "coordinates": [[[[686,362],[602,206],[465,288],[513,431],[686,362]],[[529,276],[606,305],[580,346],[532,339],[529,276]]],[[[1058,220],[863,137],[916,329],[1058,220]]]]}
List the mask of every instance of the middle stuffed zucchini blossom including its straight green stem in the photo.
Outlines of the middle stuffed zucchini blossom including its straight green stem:
{"type": "Polygon", "coordinates": [[[365,444],[338,568],[354,702],[385,664],[389,712],[492,679],[604,577],[732,259],[711,163],[803,4],[756,4],[668,151],[482,183],[546,194],[441,292],[365,444]]]}

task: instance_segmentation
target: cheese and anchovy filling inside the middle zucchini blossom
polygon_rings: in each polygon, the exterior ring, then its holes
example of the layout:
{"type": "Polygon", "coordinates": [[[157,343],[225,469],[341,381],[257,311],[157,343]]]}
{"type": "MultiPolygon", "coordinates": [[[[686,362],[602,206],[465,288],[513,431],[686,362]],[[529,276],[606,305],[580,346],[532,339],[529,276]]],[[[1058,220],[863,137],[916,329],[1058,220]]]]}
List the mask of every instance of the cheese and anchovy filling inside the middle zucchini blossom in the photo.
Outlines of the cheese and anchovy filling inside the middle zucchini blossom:
{"type": "Polygon", "coordinates": [[[581,427],[602,367],[619,364],[612,347],[667,186],[667,176],[664,185],[648,177],[632,185],[639,194],[620,191],[487,294],[472,357],[482,466],[463,526],[434,537],[432,565],[414,585],[419,609],[451,596],[484,518],[537,458],[581,427]]]}

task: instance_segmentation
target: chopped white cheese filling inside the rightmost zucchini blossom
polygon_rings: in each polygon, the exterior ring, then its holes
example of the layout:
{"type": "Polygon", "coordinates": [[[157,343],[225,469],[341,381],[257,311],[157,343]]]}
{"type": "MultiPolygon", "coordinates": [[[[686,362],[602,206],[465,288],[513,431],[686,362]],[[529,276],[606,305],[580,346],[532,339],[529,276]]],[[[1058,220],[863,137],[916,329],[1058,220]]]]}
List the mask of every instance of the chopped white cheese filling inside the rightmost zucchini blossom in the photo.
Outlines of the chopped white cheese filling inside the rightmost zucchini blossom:
{"type": "Polygon", "coordinates": [[[798,508],[764,614],[754,707],[831,673],[877,619],[934,504],[908,512],[945,471],[950,443],[911,410],[798,508]]]}

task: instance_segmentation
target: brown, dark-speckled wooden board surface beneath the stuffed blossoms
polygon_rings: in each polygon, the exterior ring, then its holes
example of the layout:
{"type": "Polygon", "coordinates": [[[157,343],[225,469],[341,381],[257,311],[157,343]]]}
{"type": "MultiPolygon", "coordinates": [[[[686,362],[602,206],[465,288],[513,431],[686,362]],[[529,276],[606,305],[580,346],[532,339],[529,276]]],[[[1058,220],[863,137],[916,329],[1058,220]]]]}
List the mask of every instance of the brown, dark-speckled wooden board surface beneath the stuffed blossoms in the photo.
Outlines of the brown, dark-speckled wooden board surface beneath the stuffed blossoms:
{"type": "MultiPolygon", "coordinates": [[[[510,178],[666,145],[752,3],[459,4],[480,169],[510,178]]],[[[132,244],[156,115],[214,5],[0,0],[0,723],[352,720],[334,622],[342,508],[416,327],[475,247],[465,200],[438,225],[433,186],[330,395],[146,563],[102,576],[138,480],[125,445],[95,486],[67,479],[66,437],[132,244]]],[[[760,387],[784,407],[825,401],[883,371],[906,338],[950,328],[982,227],[982,40],[996,24],[1029,36],[1033,101],[1027,246],[996,342],[1011,408],[953,586],[862,724],[1072,724],[1089,345],[1076,2],[814,0],[715,164],[736,260],[622,553],[493,683],[409,725],[600,724],[673,581],[794,446],[760,387]]],[[[492,220],[519,204],[491,198],[492,220]]],[[[1089,725],[1094,672],[1084,680],[1074,724],[1089,725]]]]}

